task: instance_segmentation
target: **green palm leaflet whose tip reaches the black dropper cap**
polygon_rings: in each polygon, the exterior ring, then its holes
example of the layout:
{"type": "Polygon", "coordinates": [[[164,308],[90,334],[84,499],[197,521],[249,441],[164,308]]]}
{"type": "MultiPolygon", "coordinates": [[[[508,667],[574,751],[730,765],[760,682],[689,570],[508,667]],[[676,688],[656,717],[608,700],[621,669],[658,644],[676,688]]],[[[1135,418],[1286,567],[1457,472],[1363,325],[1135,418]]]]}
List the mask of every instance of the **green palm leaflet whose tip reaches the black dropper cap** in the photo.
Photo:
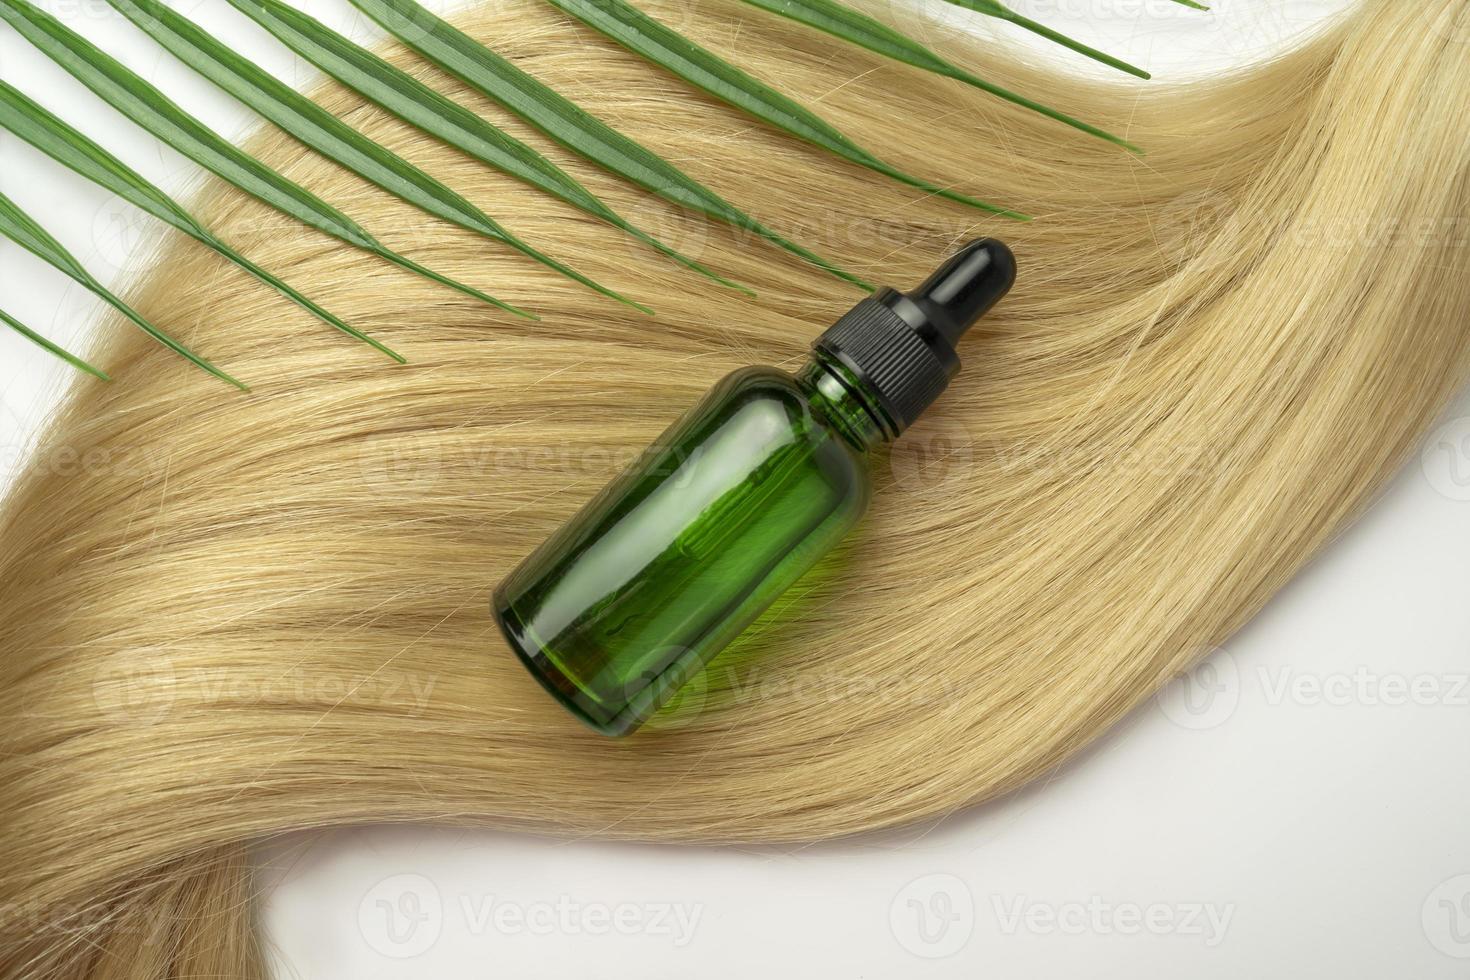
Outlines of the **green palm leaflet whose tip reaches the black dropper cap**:
{"type": "Polygon", "coordinates": [[[766,228],[663,157],[437,18],[416,0],[351,0],[351,3],[388,34],[569,150],[664,200],[760,235],[839,279],[873,289],[853,273],[766,228]]]}

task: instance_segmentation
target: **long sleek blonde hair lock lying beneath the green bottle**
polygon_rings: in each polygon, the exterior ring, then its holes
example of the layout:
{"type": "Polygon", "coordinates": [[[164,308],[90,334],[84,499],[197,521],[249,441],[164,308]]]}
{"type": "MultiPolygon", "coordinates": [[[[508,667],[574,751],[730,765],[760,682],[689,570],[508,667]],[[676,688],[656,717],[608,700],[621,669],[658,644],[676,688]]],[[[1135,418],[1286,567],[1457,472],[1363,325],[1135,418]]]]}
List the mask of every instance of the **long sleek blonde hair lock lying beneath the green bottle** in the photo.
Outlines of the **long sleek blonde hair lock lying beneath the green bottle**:
{"type": "Polygon", "coordinates": [[[288,830],[789,840],[994,798],[1255,613],[1467,376],[1464,0],[1364,0],[1279,60],[1177,88],[945,43],[1144,160],[734,3],[647,6],[879,156],[1038,216],[983,216],[823,156],[547,4],[466,15],[867,279],[911,285],[982,234],[1014,247],[1016,291],[876,461],[866,523],[682,710],[629,741],[581,730],[504,648],[491,588],[711,382],[798,364],[858,294],[548,150],[759,298],[720,289],[325,88],[353,125],[659,316],[279,134],[253,141],[390,247],[544,319],[203,195],[226,239],[412,363],[191,242],[131,295],[253,394],[107,325],[96,360],[116,382],[76,385],[0,516],[4,976],[257,976],[247,846],[288,830]]]}

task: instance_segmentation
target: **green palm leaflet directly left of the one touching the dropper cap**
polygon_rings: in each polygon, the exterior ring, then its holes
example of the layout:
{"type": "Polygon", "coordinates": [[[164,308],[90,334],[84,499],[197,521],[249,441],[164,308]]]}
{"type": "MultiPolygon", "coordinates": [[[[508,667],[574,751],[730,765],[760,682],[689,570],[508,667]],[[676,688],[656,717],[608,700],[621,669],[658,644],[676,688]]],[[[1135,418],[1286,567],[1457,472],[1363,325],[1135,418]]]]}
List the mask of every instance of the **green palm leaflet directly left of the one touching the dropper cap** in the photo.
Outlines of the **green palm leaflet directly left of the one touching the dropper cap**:
{"type": "Polygon", "coordinates": [[[279,0],[229,0],[276,40],[341,84],[370,98],[400,119],[412,122],[432,137],[495,167],[519,181],[551,194],[638,241],[656,248],[675,262],[709,276],[722,285],[750,292],[703,264],[679,254],[657,238],[639,231],[617,212],[578,184],[556,163],[485,122],[469,109],[454,103],[403,69],[354,44],[320,21],[301,13],[279,0]]]}

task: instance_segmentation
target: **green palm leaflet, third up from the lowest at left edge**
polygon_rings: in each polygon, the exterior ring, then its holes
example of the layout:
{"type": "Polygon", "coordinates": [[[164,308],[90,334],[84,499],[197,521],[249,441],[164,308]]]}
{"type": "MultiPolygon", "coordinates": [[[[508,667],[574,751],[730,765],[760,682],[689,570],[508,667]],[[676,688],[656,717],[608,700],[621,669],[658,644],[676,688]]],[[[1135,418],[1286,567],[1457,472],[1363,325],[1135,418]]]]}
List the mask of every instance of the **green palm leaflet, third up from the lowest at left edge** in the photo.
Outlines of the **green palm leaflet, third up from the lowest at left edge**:
{"type": "Polygon", "coordinates": [[[256,263],[216,238],[209,229],[185,212],[179,204],[126,163],[112,156],[84,134],[66,125],[62,119],[31,101],[13,87],[0,81],[0,126],[21,137],[41,153],[62,163],[88,181],[98,184],[135,207],[168,222],[185,235],[209,245],[262,282],[273,287],[293,303],[316,314],[344,334],[376,347],[398,363],[403,357],[366,334],[348,326],[316,303],[288,287],[256,263]]]}

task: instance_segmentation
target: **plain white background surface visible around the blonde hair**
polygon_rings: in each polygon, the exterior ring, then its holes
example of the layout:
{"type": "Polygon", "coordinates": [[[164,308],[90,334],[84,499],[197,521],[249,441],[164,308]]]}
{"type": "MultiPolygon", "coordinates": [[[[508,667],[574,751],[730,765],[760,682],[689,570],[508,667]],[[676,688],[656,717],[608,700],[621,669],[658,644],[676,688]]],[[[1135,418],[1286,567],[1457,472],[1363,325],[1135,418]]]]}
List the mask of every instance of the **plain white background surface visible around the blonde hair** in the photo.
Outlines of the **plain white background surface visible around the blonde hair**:
{"type": "MultiPolygon", "coordinates": [[[[939,0],[889,1],[978,21],[939,0]]],[[[1169,79],[1258,57],[1347,1],[1016,6],[1169,79]]],[[[343,0],[297,3],[372,37],[343,0]]],[[[100,0],[46,6],[223,131],[250,125],[100,0]]],[[[284,78],[312,79],[223,0],[175,6],[284,78]]],[[[169,190],[196,179],[7,28],[0,66],[169,190]]],[[[0,190],[90,269],[116,284],[143,267],[147,222],[13,138],[0,137],[0,190]]],[[[0,306],[74,350],[96,313],[9,242],[0,306]]],[[[63,370],[0,334],[0,485],[63,370]]],[[[807,848],[303,835],[260,855],[278,973],[1470,977],[1467,585],[1470,398],[1226,649],[1045,785],[942,823],[807,848]]]]}

